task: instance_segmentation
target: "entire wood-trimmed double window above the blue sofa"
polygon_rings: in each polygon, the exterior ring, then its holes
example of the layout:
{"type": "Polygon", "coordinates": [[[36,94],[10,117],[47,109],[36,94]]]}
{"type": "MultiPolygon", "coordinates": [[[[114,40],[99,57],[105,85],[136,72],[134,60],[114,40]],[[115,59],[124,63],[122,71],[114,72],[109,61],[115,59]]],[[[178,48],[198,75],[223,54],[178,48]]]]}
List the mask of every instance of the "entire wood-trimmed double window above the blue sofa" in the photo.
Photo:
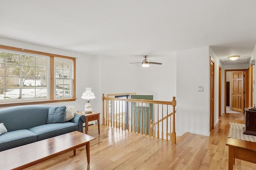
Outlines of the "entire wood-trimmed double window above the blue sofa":
{"type": "Polygon", "coordinates": [[[0,45],[0,107],[74,101],[74,68],[73,57],[0,45]]]}

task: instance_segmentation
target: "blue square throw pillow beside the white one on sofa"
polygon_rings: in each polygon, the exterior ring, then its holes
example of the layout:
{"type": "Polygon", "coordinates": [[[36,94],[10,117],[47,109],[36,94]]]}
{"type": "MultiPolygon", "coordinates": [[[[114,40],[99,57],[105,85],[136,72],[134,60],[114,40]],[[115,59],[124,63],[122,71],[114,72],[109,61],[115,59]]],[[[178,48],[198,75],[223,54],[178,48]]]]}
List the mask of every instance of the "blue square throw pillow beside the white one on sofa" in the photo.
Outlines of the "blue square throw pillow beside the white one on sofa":
{"type": "Polygon", "coordinates": [[[66,106],[50,107],[47,123],[64,123],[66,120],[66,106]]]}

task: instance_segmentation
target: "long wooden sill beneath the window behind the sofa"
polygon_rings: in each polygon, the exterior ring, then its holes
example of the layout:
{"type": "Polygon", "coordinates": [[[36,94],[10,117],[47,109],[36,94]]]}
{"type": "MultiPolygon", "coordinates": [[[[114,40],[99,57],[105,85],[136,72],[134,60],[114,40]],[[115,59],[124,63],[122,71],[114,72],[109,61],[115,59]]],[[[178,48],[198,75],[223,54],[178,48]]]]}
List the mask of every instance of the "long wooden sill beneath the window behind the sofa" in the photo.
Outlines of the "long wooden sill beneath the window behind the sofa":
{"type": "Polygon", "coordinates": [[[72,101],[76,101],[76,98],[58,99],[58,100],[29,101],[29,102],[2,103],[2,104],[0,104],[0,107],[34,105],[34,104],[46,104],[46,103],[57,103],[57,102],[72,102],[72,101]]]}

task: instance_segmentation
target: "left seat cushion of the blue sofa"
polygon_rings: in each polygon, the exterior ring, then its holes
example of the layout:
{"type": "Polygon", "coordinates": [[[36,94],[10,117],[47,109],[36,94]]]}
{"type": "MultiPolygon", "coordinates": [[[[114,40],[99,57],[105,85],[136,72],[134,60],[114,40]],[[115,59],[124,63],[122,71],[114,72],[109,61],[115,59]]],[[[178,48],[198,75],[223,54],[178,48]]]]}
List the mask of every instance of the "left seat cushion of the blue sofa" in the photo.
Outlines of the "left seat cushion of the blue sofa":
{"type": "Polygon", "coordinates": [[[0,135],[0,152],[36,141],[36,134],[27,129],[7,132],[0,135]]]}

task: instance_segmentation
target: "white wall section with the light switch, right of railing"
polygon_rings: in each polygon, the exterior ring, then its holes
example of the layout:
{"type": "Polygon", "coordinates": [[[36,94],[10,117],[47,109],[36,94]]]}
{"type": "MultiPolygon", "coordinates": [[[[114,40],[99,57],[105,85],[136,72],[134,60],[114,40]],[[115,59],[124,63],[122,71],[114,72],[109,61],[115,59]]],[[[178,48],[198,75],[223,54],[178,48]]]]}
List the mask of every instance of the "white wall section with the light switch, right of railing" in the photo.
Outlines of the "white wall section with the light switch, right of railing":
{"type": "Polygon", "coordinates": [[[209,46],[177,51],[176,133],[209,136],[210,56],[209,46]],[[198,92],[198,86],[204,91],[198,92]]]}

